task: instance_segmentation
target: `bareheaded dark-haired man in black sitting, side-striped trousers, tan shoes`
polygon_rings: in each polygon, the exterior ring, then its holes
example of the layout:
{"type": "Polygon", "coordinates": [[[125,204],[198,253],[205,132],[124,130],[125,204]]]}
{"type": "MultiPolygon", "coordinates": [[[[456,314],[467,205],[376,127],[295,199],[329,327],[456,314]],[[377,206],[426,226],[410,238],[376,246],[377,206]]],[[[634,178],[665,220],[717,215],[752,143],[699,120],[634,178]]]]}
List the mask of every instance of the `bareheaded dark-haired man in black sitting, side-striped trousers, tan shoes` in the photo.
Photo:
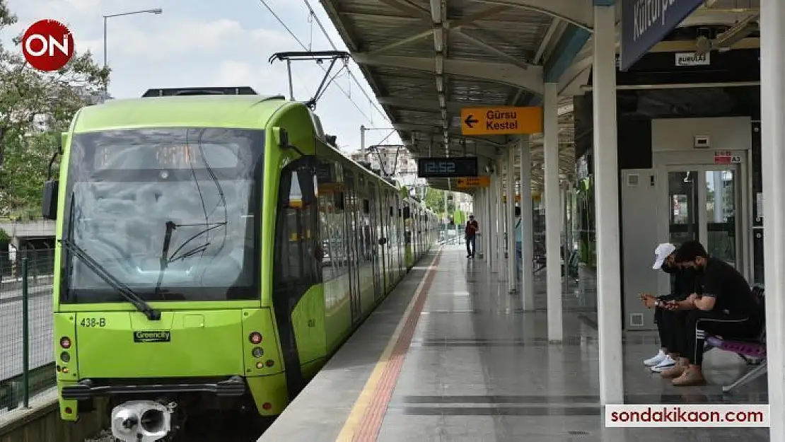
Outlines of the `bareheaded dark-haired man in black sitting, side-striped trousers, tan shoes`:
{"type": "Polygon", "coordinates": [[[702,385],[700,371],[706,334],[726,339],[753,339],[761,333],[763,313],[752,290],[736,268],[717,258],[709,258],[697,241],[688,241],[676,251],[676,262],[695,268],[703,283],[703,294],[691,294],[685,301],[669,301],[666,308],[685,310],[684,322],[676,323],[681,357],[663,378],[674,378],[674,385],[702,385]]]}

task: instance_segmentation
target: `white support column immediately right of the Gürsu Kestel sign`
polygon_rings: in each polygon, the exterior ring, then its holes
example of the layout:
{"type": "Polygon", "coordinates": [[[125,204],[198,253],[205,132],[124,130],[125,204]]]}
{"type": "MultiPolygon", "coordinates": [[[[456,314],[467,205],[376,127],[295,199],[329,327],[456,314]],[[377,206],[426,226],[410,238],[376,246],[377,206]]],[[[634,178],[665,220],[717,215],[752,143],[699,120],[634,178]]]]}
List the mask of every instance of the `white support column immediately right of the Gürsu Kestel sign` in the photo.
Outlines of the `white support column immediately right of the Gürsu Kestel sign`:
{"type": "Polygon", "coordinates": [[[543,97],[543,132],[545,135],[545,184],[543,198],[545,199],[545,247],[548,259],[546,266],[546,279],[548,289],[548,340],[561,342],[561,268],[560,236],[562,224],[560,221],[561,204],[559,188],[559,104],[558,83],[546,83],[543,97]]]}

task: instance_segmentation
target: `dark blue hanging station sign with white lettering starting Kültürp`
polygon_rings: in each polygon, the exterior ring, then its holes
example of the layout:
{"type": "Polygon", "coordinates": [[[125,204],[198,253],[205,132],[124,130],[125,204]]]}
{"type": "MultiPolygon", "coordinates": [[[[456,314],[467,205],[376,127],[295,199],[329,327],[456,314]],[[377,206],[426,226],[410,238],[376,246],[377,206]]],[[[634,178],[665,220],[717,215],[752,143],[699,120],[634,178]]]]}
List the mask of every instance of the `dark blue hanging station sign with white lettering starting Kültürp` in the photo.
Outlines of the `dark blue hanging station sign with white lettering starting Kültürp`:
{"type": "Polygon", "coordinates": [[[703,0],[623,0],[619,68],[629,69],[702,4],[703,0]]]}

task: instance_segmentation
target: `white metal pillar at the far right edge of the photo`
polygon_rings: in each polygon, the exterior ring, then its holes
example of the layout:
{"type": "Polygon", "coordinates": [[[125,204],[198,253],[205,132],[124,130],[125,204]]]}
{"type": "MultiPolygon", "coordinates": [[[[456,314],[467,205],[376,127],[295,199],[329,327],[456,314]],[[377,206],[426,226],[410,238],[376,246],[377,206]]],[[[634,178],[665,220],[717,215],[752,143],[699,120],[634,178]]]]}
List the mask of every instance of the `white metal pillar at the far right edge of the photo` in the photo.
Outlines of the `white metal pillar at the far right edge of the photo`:
{"type": "Polygon", "coordinates": [[[769,440],[785,441],[785,3],[761,1],[761,163],[769,440]]]}

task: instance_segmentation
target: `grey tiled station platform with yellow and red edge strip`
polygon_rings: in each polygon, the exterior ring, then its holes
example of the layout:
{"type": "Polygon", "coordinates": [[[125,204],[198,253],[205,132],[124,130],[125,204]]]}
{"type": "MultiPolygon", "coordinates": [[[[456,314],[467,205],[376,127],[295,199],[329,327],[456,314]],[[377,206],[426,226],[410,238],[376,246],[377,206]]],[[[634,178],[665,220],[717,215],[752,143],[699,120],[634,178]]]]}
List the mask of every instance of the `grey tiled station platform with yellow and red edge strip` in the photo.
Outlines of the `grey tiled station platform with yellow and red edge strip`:
{"type": "MultiPolygon", "coordinates": [[[[503,273],[459,246],[433,250],[258,441],[769,440],[765,428],[604,428],[596,316],[564,293],[564,341],[549,343],[544,273],[524,312],[503,273]]],[[[657,349],[654,332],[625,334],[626,404],[767,403],[765,377],[721,392],[747,369],[736,355],[711,350],[710,385],[674,387],[643,366],[657,349]]]]}

